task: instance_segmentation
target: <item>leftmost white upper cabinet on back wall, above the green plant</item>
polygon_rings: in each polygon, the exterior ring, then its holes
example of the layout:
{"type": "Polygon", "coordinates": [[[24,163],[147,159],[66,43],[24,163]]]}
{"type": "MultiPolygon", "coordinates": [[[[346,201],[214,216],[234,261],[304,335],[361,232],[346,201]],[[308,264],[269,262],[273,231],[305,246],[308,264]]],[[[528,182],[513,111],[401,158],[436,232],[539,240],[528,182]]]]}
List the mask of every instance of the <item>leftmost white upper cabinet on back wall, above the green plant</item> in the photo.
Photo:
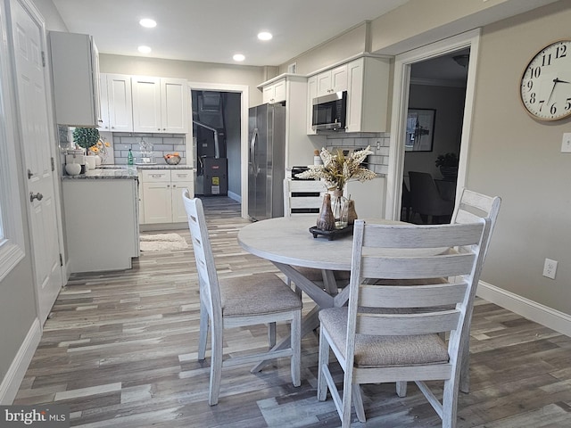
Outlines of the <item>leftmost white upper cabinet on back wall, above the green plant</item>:
{"type": "Polygon", "coordinates": [[[133,101],[131,77],[123,74],[101,75],[101,131],[132,132],[133,101]]]}

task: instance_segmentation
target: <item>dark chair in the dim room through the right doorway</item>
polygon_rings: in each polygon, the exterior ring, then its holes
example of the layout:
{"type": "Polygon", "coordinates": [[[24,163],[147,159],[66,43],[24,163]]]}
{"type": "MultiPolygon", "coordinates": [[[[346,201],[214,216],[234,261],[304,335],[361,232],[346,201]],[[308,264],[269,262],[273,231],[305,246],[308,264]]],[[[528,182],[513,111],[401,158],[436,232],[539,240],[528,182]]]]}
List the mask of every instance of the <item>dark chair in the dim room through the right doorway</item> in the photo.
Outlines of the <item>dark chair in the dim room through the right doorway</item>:
{"type": "Polygon", "coordinates": [[[443,199],[434,178],[427,172],[409,171],[410,204],[415,214],[427,223],[449,222],[454,201],[443,199]]]}

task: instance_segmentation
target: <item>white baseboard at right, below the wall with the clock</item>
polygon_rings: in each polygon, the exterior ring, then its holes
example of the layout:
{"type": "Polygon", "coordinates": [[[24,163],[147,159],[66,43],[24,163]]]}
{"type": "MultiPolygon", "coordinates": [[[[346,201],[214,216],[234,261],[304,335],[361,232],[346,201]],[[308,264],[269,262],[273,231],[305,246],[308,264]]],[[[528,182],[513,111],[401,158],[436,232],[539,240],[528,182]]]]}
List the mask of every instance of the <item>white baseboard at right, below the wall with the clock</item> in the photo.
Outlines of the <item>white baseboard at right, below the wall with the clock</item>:
{"type": "Polygon", "coordinates": [[[507,292],[484,281],[478,284],[476,294],[484,300],[491,301],[502,308],[571,337],[571,316],[559,310],[551,309],[534,300],[525,299],[525,297],[507,292]]]}

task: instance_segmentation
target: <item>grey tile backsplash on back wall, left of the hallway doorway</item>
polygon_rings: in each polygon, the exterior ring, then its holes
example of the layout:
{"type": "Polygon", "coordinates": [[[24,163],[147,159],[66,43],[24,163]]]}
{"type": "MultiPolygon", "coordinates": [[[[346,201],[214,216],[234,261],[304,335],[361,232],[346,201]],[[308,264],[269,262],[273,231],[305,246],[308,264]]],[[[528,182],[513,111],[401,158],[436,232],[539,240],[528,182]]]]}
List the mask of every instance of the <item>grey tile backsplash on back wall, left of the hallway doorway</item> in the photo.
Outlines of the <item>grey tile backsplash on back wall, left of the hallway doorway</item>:
{"type": "Polygon", "coordinates": [[[127,165],[128,149],[131,149],[135,162],[143,157],[141,154],[141,141],[153,144],[153,158],[156,163],[162,164],[162,156],[167,153],[178,152],[180,164],[186,164],[185,134],[143,134],[132,132],[113,133],[113,156],[116,165],[127,165]]]}

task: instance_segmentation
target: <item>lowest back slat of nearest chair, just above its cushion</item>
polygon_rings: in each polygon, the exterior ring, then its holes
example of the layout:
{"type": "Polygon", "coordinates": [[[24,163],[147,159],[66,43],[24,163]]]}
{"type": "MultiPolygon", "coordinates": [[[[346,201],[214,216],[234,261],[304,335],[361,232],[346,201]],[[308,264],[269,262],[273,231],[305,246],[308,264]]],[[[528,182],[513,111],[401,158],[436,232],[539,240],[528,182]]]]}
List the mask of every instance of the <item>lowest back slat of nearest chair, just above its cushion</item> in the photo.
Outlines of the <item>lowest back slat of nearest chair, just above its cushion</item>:
{"type": "Polygon", "coordinates": [[[382,336],[443,333],[454,330],[459,322],[456,309],[426,314],[363,314],[357,316],[355,333],[382,336]]]}

